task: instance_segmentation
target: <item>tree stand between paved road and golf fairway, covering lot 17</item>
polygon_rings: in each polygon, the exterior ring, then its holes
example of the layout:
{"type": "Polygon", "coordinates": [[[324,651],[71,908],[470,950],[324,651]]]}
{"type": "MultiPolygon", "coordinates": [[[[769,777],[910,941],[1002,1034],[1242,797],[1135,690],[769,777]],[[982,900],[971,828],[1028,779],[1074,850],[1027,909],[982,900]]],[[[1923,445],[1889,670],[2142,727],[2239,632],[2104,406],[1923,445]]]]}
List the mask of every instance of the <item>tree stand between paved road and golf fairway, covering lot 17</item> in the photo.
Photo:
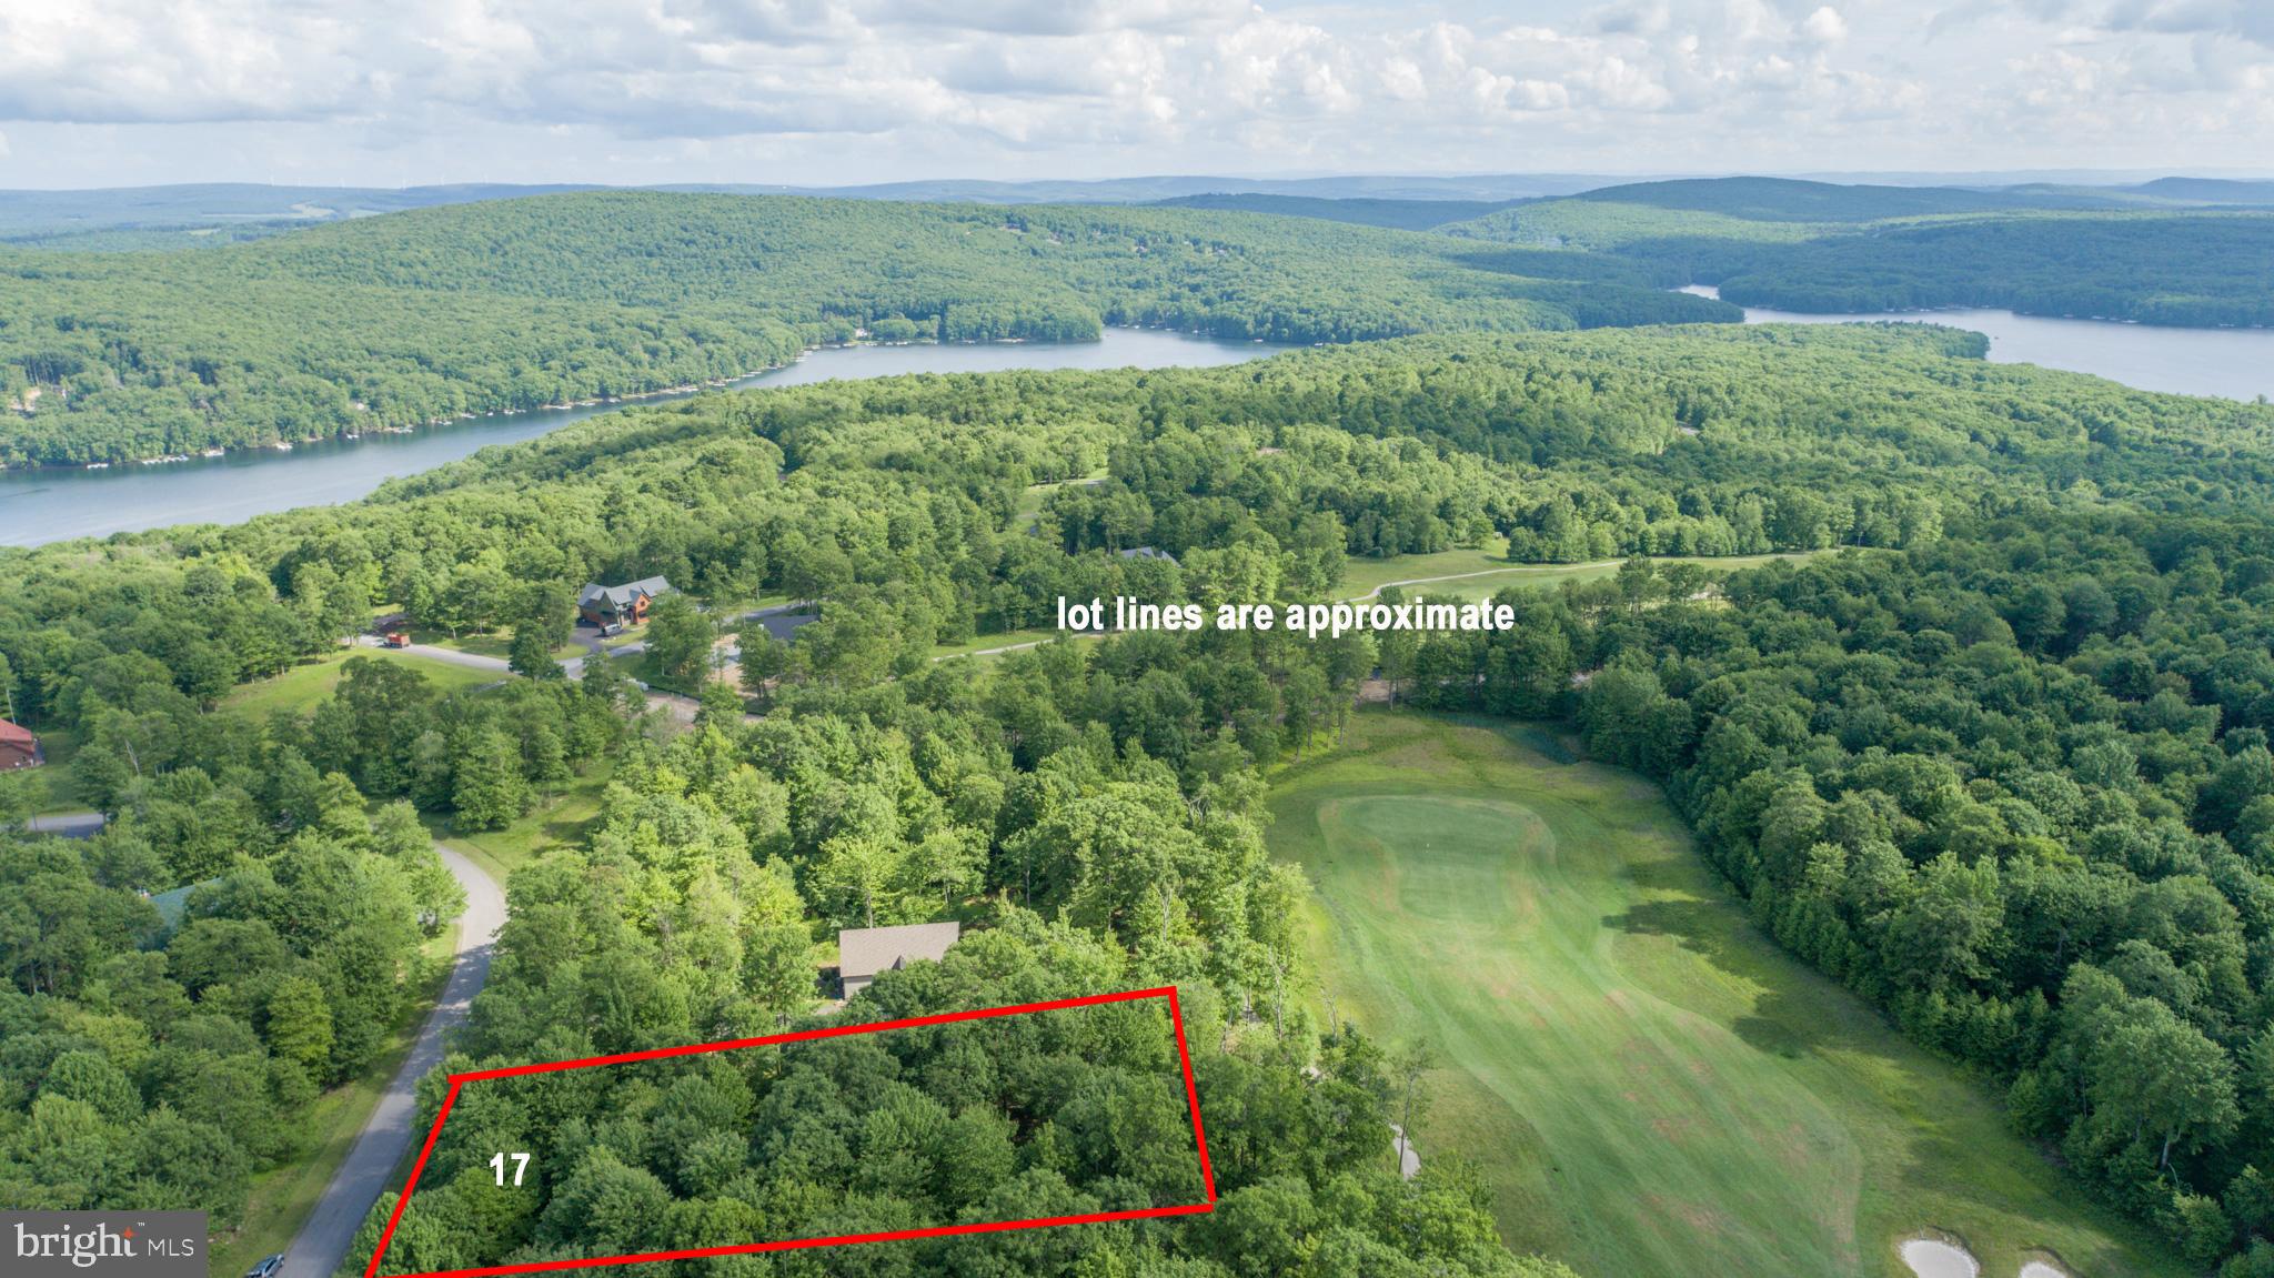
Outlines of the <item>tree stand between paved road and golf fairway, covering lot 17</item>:
{"type": "MultiPolygon", "coordinates": [[[[848,1014],[1173,980],[1207,1096],[1214,1214],[816,1251],[748,1271],[1567,1273],[1499,1246],[1458,1162],[1401,1180],[1396,1062],[1273,996],[1301,887],[1264,862],[1262,787],[1237,746],[1180,771],[1092,719],[1103,705],[1041,705],[1069,687],[1142,696],[1162,682],[1121,662],[1089,669],[1062,646],[1010,680],[982,689],[971,666],[935,666],[862,691],[810,687],[764,723],[714,721],[634,750],[591,846],[514,875],[498,971],[450,1064],[810,1023],[816,921],[928,919],[985,889],[996,901],[966,912],[980,932],[939,966],[885,973],[848,1014]],[[1062,714],[1064,737],[1016,748],[1035,712],[1062,714]]],[[[1157,1003],[473,1082],[443,1132],[391,1269],[1203,1198],[1157,1003]],[[503,1203],[493,1148],[532,1153],[523,1192],[503,1203]]],[[[355,1255],[377,1246],[391,1208],[380,1201],[355,1255]]]]}

